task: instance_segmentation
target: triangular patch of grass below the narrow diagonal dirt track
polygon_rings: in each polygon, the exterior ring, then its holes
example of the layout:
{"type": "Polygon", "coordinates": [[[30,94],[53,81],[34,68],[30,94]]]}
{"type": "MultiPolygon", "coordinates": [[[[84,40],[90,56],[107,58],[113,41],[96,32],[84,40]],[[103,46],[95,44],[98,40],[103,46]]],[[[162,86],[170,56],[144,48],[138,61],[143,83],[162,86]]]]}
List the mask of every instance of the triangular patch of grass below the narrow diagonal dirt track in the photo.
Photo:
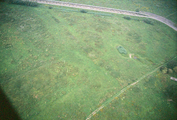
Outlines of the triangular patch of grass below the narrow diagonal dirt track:
{"type": "Polygon", "coordinates": [[[175,119],[176,91],[176,83],[169,80],[169,76],[157,71],[115,97],[93,119],[175,119]]]}

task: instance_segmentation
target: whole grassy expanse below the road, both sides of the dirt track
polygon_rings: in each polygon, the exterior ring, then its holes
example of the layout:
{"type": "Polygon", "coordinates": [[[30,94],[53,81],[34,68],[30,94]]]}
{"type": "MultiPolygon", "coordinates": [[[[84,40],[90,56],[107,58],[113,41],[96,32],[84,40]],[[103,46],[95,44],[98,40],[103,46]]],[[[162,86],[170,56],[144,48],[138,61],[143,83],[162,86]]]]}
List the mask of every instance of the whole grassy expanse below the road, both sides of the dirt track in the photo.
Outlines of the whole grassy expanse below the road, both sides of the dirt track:
{"type": "Polygon", "coordinates": [[[101,105],[91,119],[177,117],[177,74],[158,69],[177,65],[168,26],[48,5],[1,3],[0,15],[0,85],[22,119],[82,120],[101,105]]]}

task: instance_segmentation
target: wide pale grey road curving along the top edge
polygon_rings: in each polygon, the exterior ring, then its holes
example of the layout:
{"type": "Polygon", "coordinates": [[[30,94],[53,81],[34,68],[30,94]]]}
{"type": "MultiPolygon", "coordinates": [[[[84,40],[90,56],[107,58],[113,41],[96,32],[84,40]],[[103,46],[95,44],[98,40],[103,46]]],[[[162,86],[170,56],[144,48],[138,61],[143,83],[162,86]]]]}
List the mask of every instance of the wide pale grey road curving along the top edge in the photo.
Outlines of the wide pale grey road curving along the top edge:
{"type": "MultiPolygon", "coordinates": [[[[34,0],[29,0],[29,1],[33,2],[34,0]]],[[[131,15],[131,16],[152,18],[152,19],[155,19],[157,21],[160,21],[168,25],[169,27],[177,31],[177,25],[175,25],[175,23],[173,23],[171,20],[168,20],[162,16],[152,14],[149,12],[143,12],[143,11],[133,12],[133,11],[114,9],[114,8],[84,5],[84,4],[62,2],[62,1],[36,0],[36,2],[41,3],[41,4],[58,5],[58,6],[65,6],[65,7],[72,7],[72,8],[81,8],[81,9],[94,10],[94,11],[102,11],[102,12],[109,12],[109,13],[116,13],[116,14],[125,14],[125,15],[131,15]]]]}

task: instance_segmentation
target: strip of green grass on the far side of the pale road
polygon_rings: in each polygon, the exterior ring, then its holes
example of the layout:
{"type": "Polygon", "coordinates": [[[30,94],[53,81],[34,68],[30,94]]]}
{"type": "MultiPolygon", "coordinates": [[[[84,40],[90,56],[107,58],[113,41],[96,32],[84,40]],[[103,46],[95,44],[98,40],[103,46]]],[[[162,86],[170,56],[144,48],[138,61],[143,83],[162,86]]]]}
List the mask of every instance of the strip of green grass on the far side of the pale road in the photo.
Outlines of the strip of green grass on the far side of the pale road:
{"type": "Polygon", "coordinates": [[[151,12],[161,15],[177,23],[176,0],[62,0],[65,2],[81,3],[95,6],[117,8],[121,10],[151,12]]]}

